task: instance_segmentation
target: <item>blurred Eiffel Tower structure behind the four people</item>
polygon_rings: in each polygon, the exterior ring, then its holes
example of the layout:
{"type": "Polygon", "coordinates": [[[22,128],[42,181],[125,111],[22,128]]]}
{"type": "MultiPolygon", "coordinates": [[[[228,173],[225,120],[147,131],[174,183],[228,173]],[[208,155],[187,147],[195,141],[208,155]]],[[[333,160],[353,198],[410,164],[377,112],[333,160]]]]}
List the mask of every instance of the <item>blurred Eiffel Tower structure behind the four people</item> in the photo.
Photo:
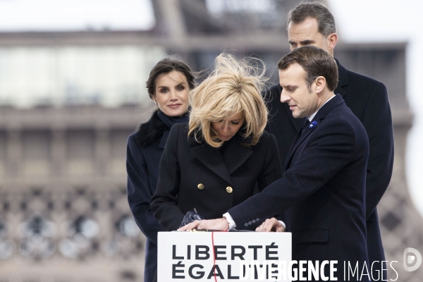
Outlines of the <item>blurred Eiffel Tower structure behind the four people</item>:
{"type": "MultiPolygon", "coordinates": [[[[154,0],[151,30],[0,33],[0,282],[143,281],[145,237],[126,200],[125,144],[151,115],[153,105],[144,90],[149,69],[166,54],[178,54],[200,71],[225,50],[258,56],[276,83],[276,62],[289,51],[286,15],[300,3],[213,1],[220,6],[205,0],[154,0]],[[46,54],[40,60],[50,64],[35,63],[35,69],[50,73],[45,79],[54,85],[54,97],[61,98],[16,107],[9,93],[15,88],[5,85],[20,80],[4,79],[1,71],[19,66],[22,54],[40,50],[46,54]],[[121,88],[100,85],[94,93],[82,82],[59,83],[68,78],[58,70],[66,70],[63,61],[70,53],[82,58],[72,57],[77,71],[86,71],[90,60],[84,58],[95,61],[106,54],[99,61],[107,63],[87,75],[121,66],[114,75],[125,72],[133,78],[122,80],[121,88]],[[124,58],[135,63],[116,65],[124,58]],[[104,103],[107,93],[121,99],[104,103]]],[[[384,82],[391,103],[395,163],[378,206],[386,259],[397,261],[392,264],[396,272],[388,267],[388,279],[398,274],[397,281],[421,281],[423,266],[412,272],[403,268],[407,247],[423,254],[423,220],[410,199],[404,166],[412,126],[405,96],[407,43],[350,44],[342,42],[340,32],[336,58],[351,71],[384,82]]],[[[100,74],[97,80],[110,82],[100,74]]]]}

